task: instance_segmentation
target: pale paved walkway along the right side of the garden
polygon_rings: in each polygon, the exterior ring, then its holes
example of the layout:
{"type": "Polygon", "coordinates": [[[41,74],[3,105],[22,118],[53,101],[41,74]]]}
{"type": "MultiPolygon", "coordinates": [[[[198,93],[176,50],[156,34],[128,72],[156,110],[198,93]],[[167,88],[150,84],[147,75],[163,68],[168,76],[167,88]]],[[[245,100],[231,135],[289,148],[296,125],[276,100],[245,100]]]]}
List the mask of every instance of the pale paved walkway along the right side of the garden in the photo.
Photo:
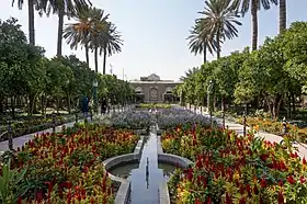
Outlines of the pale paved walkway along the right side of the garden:
{"type": "MultiPolygon", "coordinates": [[[[191,107],[191,111],[194,111],[193,106],[191,107]]],[[[206,109],[203,109],[202,112],[201,112],[201,109],[196,109],[196,113],[203,114],[203,115],[209,117],[209,114],[206,112],[206,109]]],[[[223,124],[223,120],[219,117],[213,116],[213,120],[216,121],[218,125],[223,124]]],[[[243,125],[241,125],[241,124],[225,121],[225,126],[226,127],[228,126],[229,129],[235,131],[238,135],[243,135],[243,125]]],[[[248,129],[250,129],[250,128],[247,126],[247,132],[248,132],[248,129]]],[[[257,136],[263,137],[265,140],[269,140],[271,143],[274,143],[274,141],[281,143],[283,140],[283,137],[274,135],[274,134],[265,133],[265,132],[259,132],[257,134],[257,136]]],[[[298,155],[300,158],[304,158],[304,157],[307,158],[307,145],[306,144],[295,144],[294,146],[298,148],[298,155]]]]}

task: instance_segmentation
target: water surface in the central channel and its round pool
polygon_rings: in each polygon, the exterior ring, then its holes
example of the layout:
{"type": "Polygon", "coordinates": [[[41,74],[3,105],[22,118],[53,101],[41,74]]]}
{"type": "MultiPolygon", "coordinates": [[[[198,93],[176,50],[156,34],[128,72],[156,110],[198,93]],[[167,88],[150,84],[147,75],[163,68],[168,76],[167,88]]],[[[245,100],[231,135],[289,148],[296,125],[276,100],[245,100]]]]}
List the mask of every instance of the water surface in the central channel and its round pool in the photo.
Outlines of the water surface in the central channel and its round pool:
{"type": "Polygon", "coordinates": [[[149,136],[146,136],[139,162],[121,165],[110,170],[112,174],[132,182],[132,204],[159,204],[159,185],[175,170],[172,165],[158,163],[157,139],[154,126],[149,136]]]}

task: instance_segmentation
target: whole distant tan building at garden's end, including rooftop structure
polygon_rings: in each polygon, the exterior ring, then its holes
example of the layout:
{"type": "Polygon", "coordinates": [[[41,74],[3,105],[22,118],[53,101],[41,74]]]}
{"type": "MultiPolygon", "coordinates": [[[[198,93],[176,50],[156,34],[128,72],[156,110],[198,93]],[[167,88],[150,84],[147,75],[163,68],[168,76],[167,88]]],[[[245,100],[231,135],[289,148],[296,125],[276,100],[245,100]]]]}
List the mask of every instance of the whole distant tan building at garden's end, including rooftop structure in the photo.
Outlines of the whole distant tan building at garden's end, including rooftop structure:
{"type": "Polygon", "coordinates": [[[135,89],[137,102],[162,103],[177,100],[172,90],[183,82],[161,80],[159,76],[152,73],[148,77],[140,77],[140,80],[129,81],[129,83],[135,89]]]}

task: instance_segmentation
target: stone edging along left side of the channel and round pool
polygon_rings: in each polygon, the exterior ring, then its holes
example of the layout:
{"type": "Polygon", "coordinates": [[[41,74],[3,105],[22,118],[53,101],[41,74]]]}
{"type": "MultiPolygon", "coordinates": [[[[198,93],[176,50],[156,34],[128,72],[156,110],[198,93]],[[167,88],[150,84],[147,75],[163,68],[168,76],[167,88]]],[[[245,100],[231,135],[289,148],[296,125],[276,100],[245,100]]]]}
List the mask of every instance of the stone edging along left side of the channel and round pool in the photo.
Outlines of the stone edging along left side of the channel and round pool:
{"type": "MultiPolygon", "coordinates": [[[[121,156],[112,157],[112,158],[104,160],[103,166],[104,166],[105,171],[109,171],[112,167],[115,167],[122,162],[130,162],[130,161],[139,160],[140,156],[141,156],[141,150],[144,147],[144,141],[145,141],[144,136],[140,136],[140,139],[138,140],[133,154],[121,155],[121,156]]],[[[114,203],[115,204],[127,203],[129,200],[129,195],[130,195],[130,181],[123,179],[123,178],[118,178],[111,173],[109,173],[109,178],[112,181],[121,183],[120,189],[116,193],[114,203]]]]}

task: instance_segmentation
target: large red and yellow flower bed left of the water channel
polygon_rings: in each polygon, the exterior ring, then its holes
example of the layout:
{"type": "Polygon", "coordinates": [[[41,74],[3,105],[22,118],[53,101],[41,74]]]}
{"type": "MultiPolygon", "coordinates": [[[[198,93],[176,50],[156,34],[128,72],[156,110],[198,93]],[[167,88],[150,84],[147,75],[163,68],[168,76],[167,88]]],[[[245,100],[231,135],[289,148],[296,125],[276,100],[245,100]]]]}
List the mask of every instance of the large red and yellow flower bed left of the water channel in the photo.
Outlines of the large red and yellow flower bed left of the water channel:
{"type": "Polygon", "coordinates": [[[9,188],[13,196],[7,197],[8,203],[113,203],[112,182],[102,161],[133,152],[137,141],[132,132],[98,125],[38,135],[18,149],[13,168],[27,170],[9,188]]]}

